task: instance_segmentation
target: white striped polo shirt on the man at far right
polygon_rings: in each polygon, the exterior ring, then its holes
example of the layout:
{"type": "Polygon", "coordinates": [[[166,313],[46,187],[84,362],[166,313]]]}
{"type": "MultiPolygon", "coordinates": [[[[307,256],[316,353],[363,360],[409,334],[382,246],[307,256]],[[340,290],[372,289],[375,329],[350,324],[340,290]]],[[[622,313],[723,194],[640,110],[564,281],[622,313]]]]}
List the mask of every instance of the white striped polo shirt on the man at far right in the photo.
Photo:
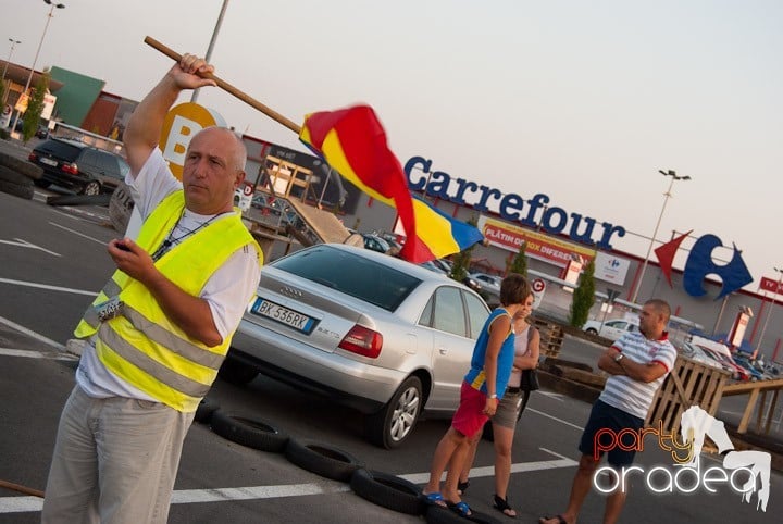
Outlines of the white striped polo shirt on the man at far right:
{"type": "Polygon", "coordinates": [[[609,406],[644,420],[656,391],[674,367],[676,349],[666,332],[658,340],[648,340],[639,332],[626,333],[612,347],[622,352],[625,359],[639,364],[657,362],[666,369],[663,375],[650,383],[634,380],[625,375],[611,375],[600,395],[600,400],[609,406]]]}

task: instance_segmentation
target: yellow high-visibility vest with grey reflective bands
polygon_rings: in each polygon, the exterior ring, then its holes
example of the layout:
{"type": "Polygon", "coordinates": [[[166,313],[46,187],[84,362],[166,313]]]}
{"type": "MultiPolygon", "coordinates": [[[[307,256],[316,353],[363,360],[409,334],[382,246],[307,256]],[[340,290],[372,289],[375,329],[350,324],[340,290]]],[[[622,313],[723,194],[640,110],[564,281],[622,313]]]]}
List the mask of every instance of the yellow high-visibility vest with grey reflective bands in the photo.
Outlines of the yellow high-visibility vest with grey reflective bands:
{"type": "MultiPolygon", "coordinates": [[[[176,191],[154,209],[141,226],[138,244],[148,253],[163,242],[185,209],[176,191]]],[[[156,267],[184,291],[198,297],[214,272],[237,249],[263,253],[238,214],[219,217],[171,248],[156,267]]],[[[103,365],[116,376],[158,401],[182,412],[195,411],[214,382],[231,346],[233,333],[219,346],[208,347],[188,337],[172,323],[152,294],[138,280],[117,270],[76,326],[77,338],[96,337],[103,365]],[[117,297],[119,316],[101,322],[95,305],[117,297]]]]}

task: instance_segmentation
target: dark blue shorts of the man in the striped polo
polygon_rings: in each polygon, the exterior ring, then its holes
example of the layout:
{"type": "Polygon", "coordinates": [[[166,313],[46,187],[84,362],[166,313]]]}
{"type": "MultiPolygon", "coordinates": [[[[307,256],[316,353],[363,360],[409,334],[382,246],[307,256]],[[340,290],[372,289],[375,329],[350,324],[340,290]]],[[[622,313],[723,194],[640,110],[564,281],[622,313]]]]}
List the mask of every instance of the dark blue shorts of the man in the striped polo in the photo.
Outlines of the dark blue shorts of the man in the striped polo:
{"type": "MultiPolygon", "coordinates": [[[[622,429],[638,431],[644,427],[644,420],[638,416],[634,416],[609,406],[608,403],[596,400],[591,411],[589,420],[582,434],[582,440],[580,440],[579,450],[582,454],[588,454],[594,457],[595,453],[595,436],[600,429],[611,429],[614,435],[619,434],[622,429]]],[[[606,432],[604,432],[606,433],[606,432]]],[[[612,446],[612,436],[609,434],[601,435],[599,437],[599,444],[604,449],[612,446]]],[[[625,442],[626,445],[630,442],[625,442]]],[[[636,456],[635,450],[624,450],[619,446],[614,446],[607,451],[607,461],[614,467],[622,467],[624,465],[633,464],[634,457],[636,456]]],[[[604,457],[604,451],[599,452],[599,457],[604,457]]]]}

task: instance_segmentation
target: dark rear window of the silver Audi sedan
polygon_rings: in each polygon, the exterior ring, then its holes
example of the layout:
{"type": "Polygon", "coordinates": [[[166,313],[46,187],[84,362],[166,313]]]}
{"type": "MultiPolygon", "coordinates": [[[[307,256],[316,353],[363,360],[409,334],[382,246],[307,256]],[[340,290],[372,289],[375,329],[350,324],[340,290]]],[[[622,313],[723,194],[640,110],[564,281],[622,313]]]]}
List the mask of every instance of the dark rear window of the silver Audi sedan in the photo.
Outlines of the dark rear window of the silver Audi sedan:
{"type": "Polygon", "coordinates": [[[352,252],[318,246],[272,262],[274,267],[395,311],[421,279],[352,252]]]}

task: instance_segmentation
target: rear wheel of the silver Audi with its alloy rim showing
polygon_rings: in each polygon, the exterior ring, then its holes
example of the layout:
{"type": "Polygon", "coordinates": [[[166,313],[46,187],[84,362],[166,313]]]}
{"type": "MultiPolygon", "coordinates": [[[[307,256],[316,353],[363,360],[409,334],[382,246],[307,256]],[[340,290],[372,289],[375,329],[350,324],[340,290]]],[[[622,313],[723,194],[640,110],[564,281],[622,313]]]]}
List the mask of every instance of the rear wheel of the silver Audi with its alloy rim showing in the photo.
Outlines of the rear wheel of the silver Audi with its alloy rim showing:
{"type": "Polygon", "coordinates": [[[381,411],[366,416],[368,439],[386,449],[399,447],[413,433],[423,406],[421,380],[409,376],[381,411]]]}

